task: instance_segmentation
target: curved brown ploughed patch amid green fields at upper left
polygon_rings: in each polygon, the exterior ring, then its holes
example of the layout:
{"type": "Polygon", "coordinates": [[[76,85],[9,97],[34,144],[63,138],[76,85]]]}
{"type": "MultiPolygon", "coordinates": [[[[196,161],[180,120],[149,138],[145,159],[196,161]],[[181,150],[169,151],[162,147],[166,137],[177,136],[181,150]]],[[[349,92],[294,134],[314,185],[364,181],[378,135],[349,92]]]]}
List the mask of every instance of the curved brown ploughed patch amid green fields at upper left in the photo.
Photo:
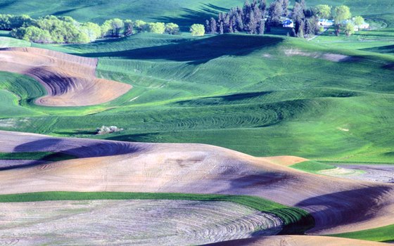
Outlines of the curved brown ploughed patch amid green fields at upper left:
{"type": "Polygon", "coordinates": [[[42,48],[1,48],[0,70],[37,79],[48,95],[35,103],[46,106],[85,106],[112,101],[132,89],[96,78],[97,59],[42,48]]]}

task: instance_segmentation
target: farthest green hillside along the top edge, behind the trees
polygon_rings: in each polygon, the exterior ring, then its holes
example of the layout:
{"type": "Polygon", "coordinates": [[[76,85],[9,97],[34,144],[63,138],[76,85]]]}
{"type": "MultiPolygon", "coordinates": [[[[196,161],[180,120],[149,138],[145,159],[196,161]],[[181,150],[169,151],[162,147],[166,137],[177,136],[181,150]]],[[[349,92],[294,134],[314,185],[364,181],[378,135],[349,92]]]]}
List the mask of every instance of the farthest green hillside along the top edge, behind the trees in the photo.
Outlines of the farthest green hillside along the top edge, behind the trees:
{"type": "MultiPolygon", "coordinates": [[[[270,1],[268,1],[270,2],[270,1]]],[[[203,22],[210,15],[218,11],[227,11],[233,6],[241,6],[243,0],[167,0],[165,4],[159,0],[128,1],[54,1],[44,3],[42,1],[12,1],[1,2],[1,13],[39,15],[70,15],[80,20],[103,21],[105,18],[132,18],[146,20],[165,20],[178,22],[181,25],[189,25],[193,22],[203,22]]],[[[292,3],[293,4],[293,3],[292,3]]],[[[394,12],[391,0],[309,0],[308,6],[316,4],[329,4],[338,6],[345,4],[350,6],[355,15],[367,17],[378,15],[390,15],[394,12]]]]}

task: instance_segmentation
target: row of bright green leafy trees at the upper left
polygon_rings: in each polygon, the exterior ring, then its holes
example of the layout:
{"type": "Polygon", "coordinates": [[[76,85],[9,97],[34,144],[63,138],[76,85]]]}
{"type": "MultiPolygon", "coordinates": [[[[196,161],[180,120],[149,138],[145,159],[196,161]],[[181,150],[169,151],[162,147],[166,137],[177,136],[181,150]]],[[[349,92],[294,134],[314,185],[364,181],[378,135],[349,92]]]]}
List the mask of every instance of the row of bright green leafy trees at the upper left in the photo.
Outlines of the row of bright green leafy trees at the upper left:
{"type": "Polygon", "coordinates": [[[89,43],[103,37],[126,37],[139,32],[177,34],[174,23],[144,22],[113,18],[102,25],[77,22],[71,17],[47,15],[37,20],[28,15],[0,15],[0,30],[11,30],[18,39],[36,43],[76,44],[89,43]]]}

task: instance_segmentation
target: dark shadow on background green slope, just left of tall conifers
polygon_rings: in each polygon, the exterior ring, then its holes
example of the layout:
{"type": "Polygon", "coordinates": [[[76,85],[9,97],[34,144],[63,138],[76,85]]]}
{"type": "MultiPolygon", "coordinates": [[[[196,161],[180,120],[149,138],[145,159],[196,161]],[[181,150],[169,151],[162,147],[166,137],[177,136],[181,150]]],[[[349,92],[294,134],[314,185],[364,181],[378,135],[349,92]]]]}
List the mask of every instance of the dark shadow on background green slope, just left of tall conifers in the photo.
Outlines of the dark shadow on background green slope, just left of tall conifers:
{"type": "Polygon", "coordinates": [[[205,20],[208,20],[211,17],[217,18],[217,15],[219,13],[227,13],[228,11],[228,8],[222,8],[214,4],[203,4],[203,6],[198,10],[181,8],[179,12],[181,12],[182,14],[178,15],[177,17],[161,16],[155,18],[155,20],[166,23],[177,23],[182,32],[189,32],[189,28],[191,25],[195,23],[205,23],[205,20]]]}

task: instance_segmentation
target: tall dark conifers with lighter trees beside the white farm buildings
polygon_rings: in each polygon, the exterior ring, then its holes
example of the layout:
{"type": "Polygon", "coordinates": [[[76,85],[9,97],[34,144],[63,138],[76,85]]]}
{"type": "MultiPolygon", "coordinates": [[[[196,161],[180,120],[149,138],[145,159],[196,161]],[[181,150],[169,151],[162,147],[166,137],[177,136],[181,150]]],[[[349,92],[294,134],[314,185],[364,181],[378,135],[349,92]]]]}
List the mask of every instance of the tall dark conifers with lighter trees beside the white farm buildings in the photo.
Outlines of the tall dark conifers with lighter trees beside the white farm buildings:
{"type": "Polygon", "coordinates": [[[275,0],[267,5],[267,0],[246,0],[242,7],[231,8],[227,13],[219,13],[217,18],[205,20],[205,33],[224,34],[246,32],[248,34],[264,34],[271,32],[271,27],[282,26],[286,19],[293,20],[294,27],[289,35],[292,37],[305,37],[321,32],[318,24],[320,18],[333,18],[335,20],[336,34],[341,31],[346,34],[354,32],[354,25],[361,25],[364,19],[355,18],[355,24],[344,20],[351,18],[348,6],[331,8],[328,5],[317,5],[307,8],[305,0],[295,0],[292,11],[288,10],[288,0],[275,0]]]}

